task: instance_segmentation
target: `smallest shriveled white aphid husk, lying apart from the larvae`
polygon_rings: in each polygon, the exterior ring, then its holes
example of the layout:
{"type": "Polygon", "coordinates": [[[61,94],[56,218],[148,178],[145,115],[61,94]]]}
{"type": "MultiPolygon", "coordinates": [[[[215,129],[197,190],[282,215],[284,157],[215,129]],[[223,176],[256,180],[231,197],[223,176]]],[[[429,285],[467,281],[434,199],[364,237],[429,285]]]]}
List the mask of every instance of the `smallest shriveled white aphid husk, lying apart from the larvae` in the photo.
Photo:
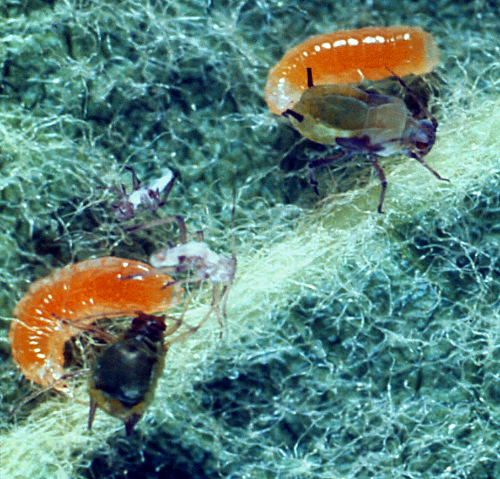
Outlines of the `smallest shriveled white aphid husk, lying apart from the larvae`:
{"type": "Polygon", "coordinates": [[[119,221],[133,218],[137,211],[141,209],[155,212],[166,203],[177,178],[176,173],[167,168],[160,178],[152,181],[147,186],[141,186],[135,171],[129,166],[126,166],[125,169],[132,173],[132,193],[127,193],[125,185],[122,185],[121,189],[117,187],[110,188],[121,197],[119,201],[111,205],[119,221]]]}

